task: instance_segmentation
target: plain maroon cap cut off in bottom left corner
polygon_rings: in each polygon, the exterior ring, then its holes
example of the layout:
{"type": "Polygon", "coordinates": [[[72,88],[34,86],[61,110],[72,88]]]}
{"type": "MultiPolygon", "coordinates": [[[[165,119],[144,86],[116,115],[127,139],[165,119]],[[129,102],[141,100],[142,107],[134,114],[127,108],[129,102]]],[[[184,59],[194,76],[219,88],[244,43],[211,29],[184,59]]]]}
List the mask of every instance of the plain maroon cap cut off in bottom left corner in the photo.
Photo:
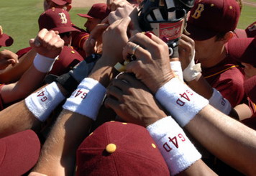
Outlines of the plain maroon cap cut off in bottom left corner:
{"type": "Polygon", "coordinates": [[[23,175],[37,163],[40,141],[32,130],[0,139],[1,176],[23,175]]]}

